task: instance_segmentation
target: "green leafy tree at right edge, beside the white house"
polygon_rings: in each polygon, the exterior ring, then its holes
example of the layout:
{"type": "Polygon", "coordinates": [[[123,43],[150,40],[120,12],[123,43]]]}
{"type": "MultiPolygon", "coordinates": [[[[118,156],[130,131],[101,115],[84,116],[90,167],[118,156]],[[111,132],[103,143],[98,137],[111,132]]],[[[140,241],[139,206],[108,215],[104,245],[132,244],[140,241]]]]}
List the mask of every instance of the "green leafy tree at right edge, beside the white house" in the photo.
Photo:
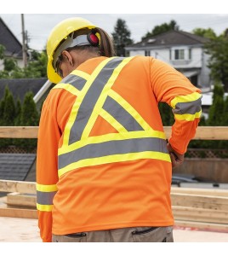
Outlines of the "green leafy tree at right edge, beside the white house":
{"type": "Polygon", "coordinates": [[[205,44],[205,51],[210,55],[208,67],[214,83],[224,84],[228,91],[228,30],[219,37],[205,44]]]}

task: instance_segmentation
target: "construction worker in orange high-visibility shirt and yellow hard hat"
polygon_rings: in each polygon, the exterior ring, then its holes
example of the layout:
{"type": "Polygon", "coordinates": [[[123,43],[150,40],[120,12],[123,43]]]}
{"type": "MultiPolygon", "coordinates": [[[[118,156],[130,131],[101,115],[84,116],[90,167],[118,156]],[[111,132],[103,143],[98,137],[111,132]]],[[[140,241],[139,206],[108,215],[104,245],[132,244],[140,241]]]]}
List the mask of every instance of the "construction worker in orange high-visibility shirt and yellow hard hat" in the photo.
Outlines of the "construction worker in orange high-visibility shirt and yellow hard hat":
{"type": "Polygon", "coordinates": [[[189,79],[153,57],[115,57],[108,34],[76,17],[48,37],[50,90],[39,124],[43,241],[174,241],[170,189],[201,115],[189,79]],[[175,122],[166,136],[157,108],[175,122]]]}

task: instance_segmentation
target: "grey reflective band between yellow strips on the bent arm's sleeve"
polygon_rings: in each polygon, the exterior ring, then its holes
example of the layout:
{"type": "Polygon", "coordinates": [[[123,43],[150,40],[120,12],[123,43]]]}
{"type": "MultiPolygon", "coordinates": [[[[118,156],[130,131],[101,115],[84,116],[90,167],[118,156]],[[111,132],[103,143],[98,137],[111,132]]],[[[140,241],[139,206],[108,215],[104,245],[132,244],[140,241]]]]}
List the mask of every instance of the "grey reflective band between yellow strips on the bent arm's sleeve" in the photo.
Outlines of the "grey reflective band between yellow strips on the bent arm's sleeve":
{"type": "Polygon", "coordinates": [[[201,98],[193,102],[179,102],[175,105],[173,113],[175,114],[185,114],[191,113],[195,114],[201,110],[201,98]]]}

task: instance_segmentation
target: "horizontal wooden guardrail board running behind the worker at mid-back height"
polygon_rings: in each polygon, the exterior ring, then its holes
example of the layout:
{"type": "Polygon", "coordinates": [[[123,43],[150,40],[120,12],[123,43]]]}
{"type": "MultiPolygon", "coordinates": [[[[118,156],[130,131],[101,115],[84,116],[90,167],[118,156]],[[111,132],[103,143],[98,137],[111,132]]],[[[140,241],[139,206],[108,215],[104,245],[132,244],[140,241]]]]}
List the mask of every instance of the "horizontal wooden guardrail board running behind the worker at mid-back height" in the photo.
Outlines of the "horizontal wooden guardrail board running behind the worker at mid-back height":
{"type": "MultiPolygon", "coordinates": [[[[0,138],[37,138],[38,126],[1,126],[0,138]]],[[[172,127],[164,126],[166,137],[170,137],[172,127]]],[[[199,126],[194,140],[228,140],[227,126],[199,126]]]]}

